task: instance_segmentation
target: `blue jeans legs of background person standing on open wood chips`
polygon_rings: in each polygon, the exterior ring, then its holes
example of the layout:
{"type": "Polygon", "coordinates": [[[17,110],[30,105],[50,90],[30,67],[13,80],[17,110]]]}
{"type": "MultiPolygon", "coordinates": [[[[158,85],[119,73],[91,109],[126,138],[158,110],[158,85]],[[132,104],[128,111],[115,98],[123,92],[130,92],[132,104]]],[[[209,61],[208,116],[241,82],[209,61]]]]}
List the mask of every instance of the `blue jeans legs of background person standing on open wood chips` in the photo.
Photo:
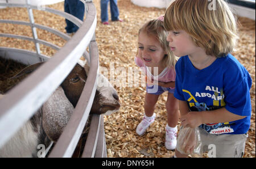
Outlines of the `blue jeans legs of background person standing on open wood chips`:
{"type": "Polygon", "coordinates": [[[109,20],[108,16],[108,3],[110,1],[110,13],[111,20],[119,19],[119,10],[117,6],[117,0],[101,0],[101,22],[106,22],[109,20]]]}

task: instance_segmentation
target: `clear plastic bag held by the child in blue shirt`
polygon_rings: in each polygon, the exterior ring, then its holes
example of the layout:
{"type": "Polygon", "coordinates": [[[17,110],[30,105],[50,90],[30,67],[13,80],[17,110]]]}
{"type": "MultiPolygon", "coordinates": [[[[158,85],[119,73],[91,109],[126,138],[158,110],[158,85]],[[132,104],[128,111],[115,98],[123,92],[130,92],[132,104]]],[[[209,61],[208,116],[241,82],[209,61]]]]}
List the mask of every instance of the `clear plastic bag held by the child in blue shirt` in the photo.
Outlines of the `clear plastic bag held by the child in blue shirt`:
{"type": "Polygon", "coordinates": [[[199,128],[181,127],[177,138],[176,149],[181,154],[191,154],[192,157],[202,157],[202,142],[199,128]]]}

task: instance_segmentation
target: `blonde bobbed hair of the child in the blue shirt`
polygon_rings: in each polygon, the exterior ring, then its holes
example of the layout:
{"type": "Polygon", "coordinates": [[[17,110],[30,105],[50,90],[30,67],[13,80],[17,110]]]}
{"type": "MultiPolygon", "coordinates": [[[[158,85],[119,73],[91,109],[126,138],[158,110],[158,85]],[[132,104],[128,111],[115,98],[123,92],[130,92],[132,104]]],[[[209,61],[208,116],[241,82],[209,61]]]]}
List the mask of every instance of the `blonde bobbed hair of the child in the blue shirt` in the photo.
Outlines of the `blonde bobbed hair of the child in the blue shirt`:
{"type": "Polygon", "coordinates": [[[223,57],[237,39],[236,19],[223,0],[176,0],[164,14],[167,31],[184,30],[206,54],[223,57]]]}

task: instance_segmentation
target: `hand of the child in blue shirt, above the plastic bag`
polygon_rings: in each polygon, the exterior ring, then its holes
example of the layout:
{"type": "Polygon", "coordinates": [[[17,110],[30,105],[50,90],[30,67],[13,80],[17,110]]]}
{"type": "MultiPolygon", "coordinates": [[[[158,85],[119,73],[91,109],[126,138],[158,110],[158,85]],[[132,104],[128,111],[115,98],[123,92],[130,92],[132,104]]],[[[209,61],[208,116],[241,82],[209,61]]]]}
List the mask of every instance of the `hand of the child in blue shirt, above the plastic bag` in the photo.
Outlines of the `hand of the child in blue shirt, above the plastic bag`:
{"type": "Polygon", "coordinates": [[[203,119],[201,118],[201,113],[203,112],[189,112],[184,116],[180,117],[181,125],[183,127],[196,128],[197,126],[203,124],[203,119]]]}

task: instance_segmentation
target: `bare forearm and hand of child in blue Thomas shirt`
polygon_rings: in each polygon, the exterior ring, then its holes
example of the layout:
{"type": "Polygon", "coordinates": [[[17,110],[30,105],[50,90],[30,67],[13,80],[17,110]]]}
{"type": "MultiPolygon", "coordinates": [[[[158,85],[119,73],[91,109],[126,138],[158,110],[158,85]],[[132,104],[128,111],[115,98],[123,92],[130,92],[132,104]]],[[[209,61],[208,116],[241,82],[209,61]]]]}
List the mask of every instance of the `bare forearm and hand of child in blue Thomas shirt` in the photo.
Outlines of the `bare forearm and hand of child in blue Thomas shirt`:
{"type": "Polygon", "coordinates": [[[189,112],[187,115],[181,115],[180,120],[181,125],[195,128],[201,124],[236,121],[245,117],[220,108],[213,111],[189,112]]]}

